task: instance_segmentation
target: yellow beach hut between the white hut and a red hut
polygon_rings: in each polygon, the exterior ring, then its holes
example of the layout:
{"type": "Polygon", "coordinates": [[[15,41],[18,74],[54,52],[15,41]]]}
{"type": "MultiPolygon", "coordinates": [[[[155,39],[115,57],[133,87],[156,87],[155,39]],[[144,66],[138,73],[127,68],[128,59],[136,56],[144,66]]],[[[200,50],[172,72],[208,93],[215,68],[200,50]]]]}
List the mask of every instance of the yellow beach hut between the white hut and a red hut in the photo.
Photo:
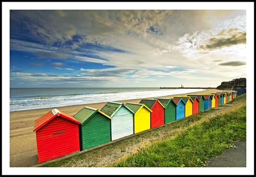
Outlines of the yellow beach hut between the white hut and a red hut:
{"type": "Polygon", "coordinates": [[[143,132],[150,129],[150,114],[151,110],[144,104],[126,103],[133,112],[134,118],[134,133],[143,132]]]}

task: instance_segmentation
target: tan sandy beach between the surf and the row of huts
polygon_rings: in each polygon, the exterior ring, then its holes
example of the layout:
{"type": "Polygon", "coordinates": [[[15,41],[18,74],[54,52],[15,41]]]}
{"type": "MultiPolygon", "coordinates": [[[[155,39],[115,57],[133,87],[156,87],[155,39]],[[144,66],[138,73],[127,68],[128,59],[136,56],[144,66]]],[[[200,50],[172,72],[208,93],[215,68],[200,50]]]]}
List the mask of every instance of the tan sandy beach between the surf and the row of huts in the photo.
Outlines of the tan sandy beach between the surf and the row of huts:
{"type": "MultiPolygon", "coordinates": [[[[207,94],[224,90],[206,89],[200,92],[175,94],[159,98],[173,98],[187,94],[207,94]]],[[[142,98],[141,98],[142,99],[142,98]]],[[[139,103],[140,99],[113,100],[121,103],[139,103]]],[[[106,103],[86,104],[94,108],[102,108],[106,103]]],[[[75,115],[85,105],[57,107],[70,115],[75,115]]],[[[10,112],[10,167],[29,167],[38,164],[36,134],[33,133],[35,120],[50,111],[52,108],[10,112]]]]}

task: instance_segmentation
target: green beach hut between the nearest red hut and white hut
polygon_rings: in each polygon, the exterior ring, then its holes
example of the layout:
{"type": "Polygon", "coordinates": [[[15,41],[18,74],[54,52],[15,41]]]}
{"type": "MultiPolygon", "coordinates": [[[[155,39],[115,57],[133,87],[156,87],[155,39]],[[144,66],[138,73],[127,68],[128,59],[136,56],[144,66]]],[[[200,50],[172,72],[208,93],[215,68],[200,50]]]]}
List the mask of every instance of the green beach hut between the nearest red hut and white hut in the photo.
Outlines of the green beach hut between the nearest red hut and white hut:
{"type": "Polygon", "coordinates": [[[111,117],[92,107],[83,107],[73,116],[80,122],[80,151],[111,141],[111,117]]]}

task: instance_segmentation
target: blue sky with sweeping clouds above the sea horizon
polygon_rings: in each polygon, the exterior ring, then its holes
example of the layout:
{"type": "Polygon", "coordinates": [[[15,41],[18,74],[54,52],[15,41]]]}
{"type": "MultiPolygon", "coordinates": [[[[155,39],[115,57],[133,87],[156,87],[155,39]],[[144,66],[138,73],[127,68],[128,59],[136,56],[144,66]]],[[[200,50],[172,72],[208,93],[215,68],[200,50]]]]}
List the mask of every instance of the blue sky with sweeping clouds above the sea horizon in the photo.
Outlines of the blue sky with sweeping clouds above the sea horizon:
{"type": "Polygon", "coordinates": [[[246,10],[11,10],[10,87],[216,87],[246,77],[246,10]]]}

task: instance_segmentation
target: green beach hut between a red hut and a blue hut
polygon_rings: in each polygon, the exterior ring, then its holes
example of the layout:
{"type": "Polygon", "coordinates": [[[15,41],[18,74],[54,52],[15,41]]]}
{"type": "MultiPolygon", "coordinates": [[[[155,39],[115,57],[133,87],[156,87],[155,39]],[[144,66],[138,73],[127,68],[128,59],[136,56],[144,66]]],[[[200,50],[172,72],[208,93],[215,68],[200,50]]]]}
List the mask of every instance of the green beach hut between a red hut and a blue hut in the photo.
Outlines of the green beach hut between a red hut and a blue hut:
{"type": "Polygon", "coordinates": [[[169,98],[154,98],[158,99],[164,106],[164,124],[168,124],[176,120],[176,104],[169,98]]]}

